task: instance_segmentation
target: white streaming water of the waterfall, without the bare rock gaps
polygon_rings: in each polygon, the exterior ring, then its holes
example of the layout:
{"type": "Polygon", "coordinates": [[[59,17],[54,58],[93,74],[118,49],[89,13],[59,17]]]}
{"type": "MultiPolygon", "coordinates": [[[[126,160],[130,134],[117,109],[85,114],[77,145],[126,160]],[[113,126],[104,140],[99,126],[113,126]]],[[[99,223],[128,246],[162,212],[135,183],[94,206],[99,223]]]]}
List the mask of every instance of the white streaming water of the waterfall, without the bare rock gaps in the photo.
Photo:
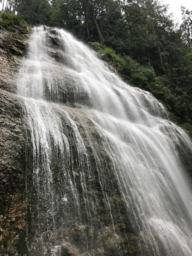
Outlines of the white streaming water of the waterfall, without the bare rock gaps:
{"type": "MultiPolygon", "coordinates": [[[[84,204],[87,219],[92,223],[98,218],[94,215],[94,196],[93,201],[87,196],[85,172],[88,170],[90,178],[93,175],[86,142],[76,124],[76,116],[81,111],[100,134],[99,140],[113,163],[127,215],[141,240],[150,244],[150,255],[191,256],[192,194],[181,163],[182,156],[190,157],[192,153],[189,137],[166,119],[165,109],[150,93],[125,84],[95,52],[64,30],[57,32],[62,47],[57,49],[59,58],[56,61],[50,56],[49,31],[43,27],[33,29],[28,55],[23,59],[17,80],[17,91],[25,102],[26,122],[32,139],[31,186],[37,195],[36,217],[46,212],[46,217],[38,218],[29,250],[35,252],[38,247],[44,255],[58,255],[53,235],[50,234],[48,249],[45,248],[47,238],[44,238],[45,232],[62,226],[62,219],[58,221],[56,217],[57,211],[67,207],[66,194],[61,191],[60,198],[54,192],[52,148],[58,151],[57,160],[64,173],[61,190],[70,186],[76,221],[83,228],[78,188],[73,175],[66,171],[66,166],[70,166],[76,175],[73,148],[64,128],[66,123],[75,141],[84,202],[89,201],[84,204]],[[63,98],[69,99],[70,93],[74,95],[72,102],[63,98]],[[36,244],[38,240],[41,245],[36,244]]],[[[85,121],[82,116],[79,119],[93,151],[102,196],[110,215],[111,203],[103,185],[104,167],[85,121]]],[[[115,233],[112,215],[111,223],[115,233]]],[[[87,244],[87,250],[89,247],[87,244]]],[[[147,254],[142,250],[140,255],[147,254]]]]}

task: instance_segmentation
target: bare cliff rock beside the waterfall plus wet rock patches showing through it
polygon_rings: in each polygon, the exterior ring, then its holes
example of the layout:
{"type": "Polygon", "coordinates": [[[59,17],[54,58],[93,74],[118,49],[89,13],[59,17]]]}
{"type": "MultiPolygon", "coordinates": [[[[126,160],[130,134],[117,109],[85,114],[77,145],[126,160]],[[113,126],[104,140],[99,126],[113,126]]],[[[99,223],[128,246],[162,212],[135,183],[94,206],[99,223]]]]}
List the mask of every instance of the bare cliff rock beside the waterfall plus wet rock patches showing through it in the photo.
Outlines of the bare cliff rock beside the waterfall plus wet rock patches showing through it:
{"type": "MultiPolygon", "coordinates": [[[[60,116],[70,144],[70,154],[62,159],[61,152],[52,145],[50,169],[54,223],[52,212],[47,216],[47,209],[51,207],[49,195],[46,195],[48,199],[44,197],[42,183],[39,184],[40,189],[34,186],[32,143],[24,116],[25,106],[19,97],[12,94],[16,92],[15,73],[25,53],[26,39],[27,36],[22,39],[0,30],[0,253],[3,256],[42,256],[45,250],[42,241],[46,244],[51,240],[55,247],[59,247],[62,256],[140,255],[139,238],[128,219],[111,160],[98,131],[84,111],[68,107],[77,100],[70,79],[68,83],[66,81],[65,91],[60,90],[55,99],[55,102],[68,106],[53,107],[60,116]],[[13,47],[20,55],[13,51],[13,47]],[[81,157],[73,125],[64,117],[63,111],[69,113],[81,134],[86,147],[86,153],[81,157]],[[94,148],[97,148],[97,153],[94,148]],[[102,168],[98,172],[99,165],[102,168]],[[47,208],[44,205],[46,200],[47,208]],[[35,247],[32,246],[34,239],[39,242],[35,247]],[[63,244],[64,241],[71,246],[63,244]]],[[[47,43],[50,57],[70,65],[55,30],[50,31],[47,43]]],[[[64,71],[61,69],[61,72],[64,71]]],[[[54,102],[48,92],[47,95],[54,102]]],[[[83,93],[79,101],[89,103],[83,93]]],[[[39,158],[41,160],[41,154],[39,158]]],[[[40,168],[41,165],[40,161],[40,168]]],[[[51,248],[47,249],[47,255],[53,255],[51,248]]]]}

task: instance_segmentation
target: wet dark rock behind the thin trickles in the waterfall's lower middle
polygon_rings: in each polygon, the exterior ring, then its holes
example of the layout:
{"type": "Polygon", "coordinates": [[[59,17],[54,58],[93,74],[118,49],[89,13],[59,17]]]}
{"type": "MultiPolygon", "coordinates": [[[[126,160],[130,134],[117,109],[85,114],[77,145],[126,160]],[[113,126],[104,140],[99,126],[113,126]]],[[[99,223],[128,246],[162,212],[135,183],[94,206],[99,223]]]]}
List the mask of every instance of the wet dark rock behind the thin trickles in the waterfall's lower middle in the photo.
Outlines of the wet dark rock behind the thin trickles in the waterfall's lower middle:
{"type": "MultiPolygon", "coordinates": [[[[64,134],[70,144],[70,164],[67,155],[65,154],[65,160],[62,160],[61,152],[55,150],[52,145],[52,189],[48,195],[46,193],[46,196],[44,195],[44,187],[39,190],[32,184],[34,183],[32,180],[33,169],[30,164],[32,147],[28,149],[27,156],[29,158],[26,158],[29,163],[27,164],[27,187],[30,189],[26,217],[28,230],[30,230],[27,236],[28,246],[31,248],[30,255],[41,256],[42,251],[45,250],[45,247],[41,248],[41,245],[42,243],[48,244],[46,241],[50,238],[55,247],[61,246],[63,241],[70,243],[72,247],[78,249],[81,256],[138,255],[138,237],[128,220],[111,161],[102,146],[98,131],[84,111],[61,105],[59,108],[67,111],[76,123],[87,148],[89,160],[87,163],[86,155],[82,158],[78,157],[75,132],[60,109],[58,114],[64,134]],[[84,125],[82,125],[82,120],[84,125]],[[94,146],[100,154],[102,169],[99,171],[94,157],[95,152],[93,152],[93,146],[86,131],[90,132],[94,146]],[[74,197],[74,192],[76,197],[74,197]],[[52,207],[54,211],[54,223],[51,221],[51,216],[48,216],[49,221],[46,221],[47,210],[44,207],[44,199],[51,193],[53,193],[53,207],[49,205],[48,209],[50,210],[52,207]],[[109,211],[109,204],[111,211],[109,211]],[[49,232],[39,230],[42,221],[44,221],[43,230],[47,230],[48,226],[49,232]],[[35,236],[38,237],[37,241],[34,241],[35,236]],[[32,246],[34,243],[39,243],[36,246],[37,249],[32,246]]],[[[55,107],[54,111],[58,111],[58,108],[55,107]]],[[[41,184],[46,184],[42,176],[41,184]]],[[[47,255],[49,253],[51,255],[47,248],[47,255]]]]}

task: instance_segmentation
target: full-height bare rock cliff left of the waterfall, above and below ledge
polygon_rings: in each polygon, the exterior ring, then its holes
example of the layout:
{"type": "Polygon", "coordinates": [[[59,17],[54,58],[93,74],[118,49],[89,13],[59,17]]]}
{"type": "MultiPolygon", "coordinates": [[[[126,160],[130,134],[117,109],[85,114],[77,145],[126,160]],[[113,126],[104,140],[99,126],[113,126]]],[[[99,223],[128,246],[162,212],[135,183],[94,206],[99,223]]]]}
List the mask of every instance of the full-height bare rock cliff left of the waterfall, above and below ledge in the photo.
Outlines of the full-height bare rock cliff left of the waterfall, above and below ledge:
{"type": "Polygon", "coordinates": [[[27,253],[25,131],[22,102],[11,93],[25,42],[0,29],[0,255],[27,253]]]}

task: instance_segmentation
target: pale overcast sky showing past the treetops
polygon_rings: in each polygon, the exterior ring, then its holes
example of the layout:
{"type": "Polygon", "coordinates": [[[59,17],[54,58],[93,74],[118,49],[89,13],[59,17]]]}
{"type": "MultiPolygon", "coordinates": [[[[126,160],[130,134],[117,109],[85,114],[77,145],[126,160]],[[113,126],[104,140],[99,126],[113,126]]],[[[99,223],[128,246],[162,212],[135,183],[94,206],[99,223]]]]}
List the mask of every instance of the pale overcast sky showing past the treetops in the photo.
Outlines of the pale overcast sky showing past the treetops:
{"type": "MultiPolygon", "coordinates": [[[[192,0],[164,0],[164,3],[169,4],[169,12],[174,14],[174,19],[179,23],[182,21],[180,12],[181,5],[185,6],[186,9],[189,9],[189,11],[192,11],[192,0]]],[[[0,4],[0,9],[2,9],[2,4],[0,4]]]]}

